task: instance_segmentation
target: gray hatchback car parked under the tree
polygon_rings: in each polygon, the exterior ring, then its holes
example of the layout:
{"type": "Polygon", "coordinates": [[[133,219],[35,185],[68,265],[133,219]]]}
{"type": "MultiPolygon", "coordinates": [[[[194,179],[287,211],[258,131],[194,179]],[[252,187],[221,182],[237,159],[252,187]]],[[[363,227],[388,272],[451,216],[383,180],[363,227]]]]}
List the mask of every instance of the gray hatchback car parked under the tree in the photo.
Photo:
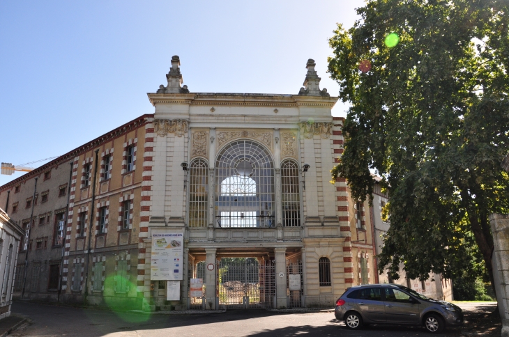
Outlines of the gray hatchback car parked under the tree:
{"type": "Polygon", "coordinates": [[[424,325],[427,331],[439,333],[446,326],[463,324],[459,306],[392,283],[347,289],[336,301],[335,316],[349,329],[369,324],[409,324],[424,325]]]}

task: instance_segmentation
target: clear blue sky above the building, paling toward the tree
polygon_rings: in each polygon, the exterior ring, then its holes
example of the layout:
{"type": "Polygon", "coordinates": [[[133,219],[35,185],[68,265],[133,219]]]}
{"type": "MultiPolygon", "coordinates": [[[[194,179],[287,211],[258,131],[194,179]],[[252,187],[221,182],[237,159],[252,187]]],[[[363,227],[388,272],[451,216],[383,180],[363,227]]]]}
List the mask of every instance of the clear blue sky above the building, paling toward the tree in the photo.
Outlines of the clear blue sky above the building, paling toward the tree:
{"type": "MultiPolygon", "coordinates": [[[[191,92],[298,93],[307,58],[321,88],[328,38],[362,0],[0,1],[0,161],[63,153],[153,113],[173,55],[191,92]]],[[[334,116],[345,116],[339,102],[334,116]]],[[[44,164],[44,163],[40,163],[44,164]]],[[[38,166],[36,164],[33,166],[38,166]]],[[[22,173],[0,175],[0,185],[22,173]]]]}

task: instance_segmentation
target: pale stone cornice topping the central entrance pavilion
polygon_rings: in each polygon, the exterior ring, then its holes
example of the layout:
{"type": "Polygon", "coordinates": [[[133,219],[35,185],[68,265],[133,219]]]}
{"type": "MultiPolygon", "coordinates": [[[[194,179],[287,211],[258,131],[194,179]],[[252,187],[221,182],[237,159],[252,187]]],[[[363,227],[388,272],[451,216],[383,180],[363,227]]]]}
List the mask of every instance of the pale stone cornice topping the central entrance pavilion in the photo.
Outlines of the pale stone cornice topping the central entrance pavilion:
{"type": "Polygon", "coordinates": [[[218,107],[330,107],[338,97],[243,93],[148,93],[155,104],[189,104],[218,107]]]}

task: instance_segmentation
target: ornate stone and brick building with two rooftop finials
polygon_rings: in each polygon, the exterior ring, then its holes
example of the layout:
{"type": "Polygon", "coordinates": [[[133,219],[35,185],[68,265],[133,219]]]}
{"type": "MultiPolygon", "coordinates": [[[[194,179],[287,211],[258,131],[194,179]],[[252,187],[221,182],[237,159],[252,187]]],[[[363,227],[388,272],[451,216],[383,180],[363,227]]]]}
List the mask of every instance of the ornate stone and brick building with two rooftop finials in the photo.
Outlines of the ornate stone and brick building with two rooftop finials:
{"type": "Polygon", "coordinates": [[[330,182],[343,119],[314,61],[295,95],[191,93],[179,65],[174,56],[167,85],[148,94],[153,114],[0,187],[0,205],[29,233],[15,297],[318,307],[375,283],[376,221],[346,182],[330,182]],[[160,248],[177,253],[169,261],[160,248]]]}

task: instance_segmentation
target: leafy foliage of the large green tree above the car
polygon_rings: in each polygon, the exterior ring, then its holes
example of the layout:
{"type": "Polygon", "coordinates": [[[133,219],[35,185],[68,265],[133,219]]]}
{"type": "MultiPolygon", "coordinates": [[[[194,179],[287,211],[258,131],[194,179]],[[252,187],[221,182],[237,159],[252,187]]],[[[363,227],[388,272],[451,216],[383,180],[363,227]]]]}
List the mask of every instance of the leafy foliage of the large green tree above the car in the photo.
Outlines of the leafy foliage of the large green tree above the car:
{"type": "Polygon", "coordinates": [[[489,214],[509,211],[508,1],[368,0],[357,13],[329,40],[351,104],[333,181],[360,200],[372,172],[390,186],[380,272],[480,274],[481,256],[493,283],[489,214]]]}

